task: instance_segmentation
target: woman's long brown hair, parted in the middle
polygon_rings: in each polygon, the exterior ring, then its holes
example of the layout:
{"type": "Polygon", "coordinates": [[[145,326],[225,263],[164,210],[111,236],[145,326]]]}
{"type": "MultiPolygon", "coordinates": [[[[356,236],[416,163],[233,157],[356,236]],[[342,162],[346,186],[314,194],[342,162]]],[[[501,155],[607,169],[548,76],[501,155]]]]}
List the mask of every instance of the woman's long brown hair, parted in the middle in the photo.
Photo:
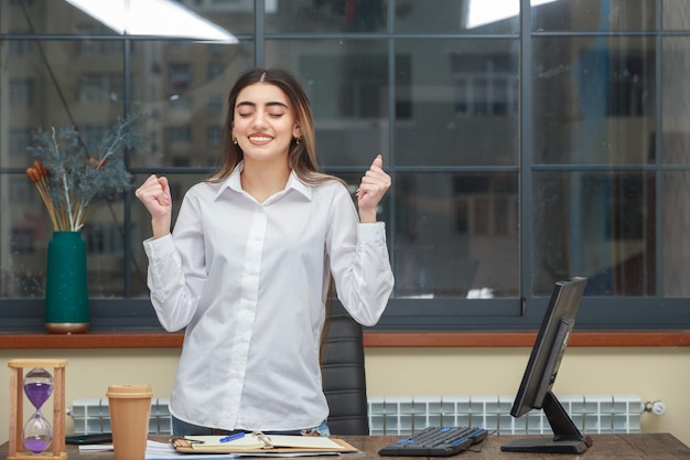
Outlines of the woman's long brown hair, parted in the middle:
{"type": "Polygon", "coordinates": [[[294,115],[302,132],[302,138],[299,142],[293,139],[290,143],[290,151],[288,152],[288,165],[290,169],[297,173],[300,180],[308,184],[319,184],[327,180],[341,181],[334,175],[319,171],[311,104],[294,76],[281,68],[254,68],[245,72],[230,89],[227,99],[228,113],[223,132],[223,164],[207,181],[220,182],[225,180],[244,158],[241,148],[233,142],[235,105],[239,93],[247,86],[256,83],[268,83],[277,86],[288,96],[294,107],[294,115]]]}

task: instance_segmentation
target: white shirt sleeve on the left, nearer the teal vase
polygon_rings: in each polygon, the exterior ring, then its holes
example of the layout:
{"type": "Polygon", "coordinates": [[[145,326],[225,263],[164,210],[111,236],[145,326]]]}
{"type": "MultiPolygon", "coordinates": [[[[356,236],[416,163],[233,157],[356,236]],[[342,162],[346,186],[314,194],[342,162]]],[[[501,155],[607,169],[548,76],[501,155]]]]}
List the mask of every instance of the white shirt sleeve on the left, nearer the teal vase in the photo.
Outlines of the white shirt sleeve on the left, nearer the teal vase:
{"type": "Polygon", "coordinates": [[[143,242],[151,303],[161,325],[170,332],[190,323],[207,278],[200,212],[194,202],[185,196],[171,235],[143,242]]]}

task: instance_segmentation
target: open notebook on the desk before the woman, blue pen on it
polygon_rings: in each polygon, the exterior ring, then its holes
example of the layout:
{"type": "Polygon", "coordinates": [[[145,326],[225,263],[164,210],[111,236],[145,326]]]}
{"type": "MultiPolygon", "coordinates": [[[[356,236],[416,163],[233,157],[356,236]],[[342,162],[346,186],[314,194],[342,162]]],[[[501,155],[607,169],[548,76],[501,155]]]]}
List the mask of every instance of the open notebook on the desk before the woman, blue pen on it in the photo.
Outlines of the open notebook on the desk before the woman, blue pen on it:
{"type": "Polygon", "coordinates": [[[223,436],[186,436],[173,440],[184,453],[337,453],[358,450],[342,439],[323,436],[263,435],[247,432],[240,438],[222,441],[223,436]]]}

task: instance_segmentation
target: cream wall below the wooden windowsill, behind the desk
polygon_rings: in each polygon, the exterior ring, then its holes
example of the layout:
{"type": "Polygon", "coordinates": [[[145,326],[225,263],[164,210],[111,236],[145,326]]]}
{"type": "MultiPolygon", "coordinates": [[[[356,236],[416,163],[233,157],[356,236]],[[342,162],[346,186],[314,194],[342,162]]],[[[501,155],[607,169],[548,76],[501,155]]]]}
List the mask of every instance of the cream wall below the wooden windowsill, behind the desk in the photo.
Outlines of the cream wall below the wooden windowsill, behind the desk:
{"type": "MultiPolygon", "coordinates": [[[[1,350],[11,359],[66,359],[66,405],[105,397],[108,385],[145,383],[169,397],[179,350],[1,350]]],[[[529,349],[367,349],[370,396],[514,395],[529,349]],[[406,372],[411,366],[416,373],[406,372]]],[[[9,439],[9,368],[0,367],[0,442],[9,439]]],[[[666,414],[644,414],[643,431],[671,432],[690,445],[690,347],[570,347],[554,393],[637,394],[662,399],[666,414]]],[[[52,402],[48,400],[48,404],[52,402]]],[[[26,403],[25,406],[29,406],[26,403]]],[[[21,428],[20,428],[21,429],[21,428]]],[[[72,419],[67,417],[67,431],[72,419]]]]}

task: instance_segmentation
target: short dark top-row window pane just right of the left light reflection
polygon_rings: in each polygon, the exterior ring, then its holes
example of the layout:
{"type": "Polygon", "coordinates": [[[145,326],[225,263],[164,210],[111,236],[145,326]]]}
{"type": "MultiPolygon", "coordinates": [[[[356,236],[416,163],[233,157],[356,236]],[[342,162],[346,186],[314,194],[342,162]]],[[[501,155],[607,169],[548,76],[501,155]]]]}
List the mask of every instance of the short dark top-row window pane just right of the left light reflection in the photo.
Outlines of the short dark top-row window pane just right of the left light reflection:
{"type": "Polygon", "coordinates": [[[269,0],[266,13],[268,33],[386,32],[388,0],[269,0]]]}

